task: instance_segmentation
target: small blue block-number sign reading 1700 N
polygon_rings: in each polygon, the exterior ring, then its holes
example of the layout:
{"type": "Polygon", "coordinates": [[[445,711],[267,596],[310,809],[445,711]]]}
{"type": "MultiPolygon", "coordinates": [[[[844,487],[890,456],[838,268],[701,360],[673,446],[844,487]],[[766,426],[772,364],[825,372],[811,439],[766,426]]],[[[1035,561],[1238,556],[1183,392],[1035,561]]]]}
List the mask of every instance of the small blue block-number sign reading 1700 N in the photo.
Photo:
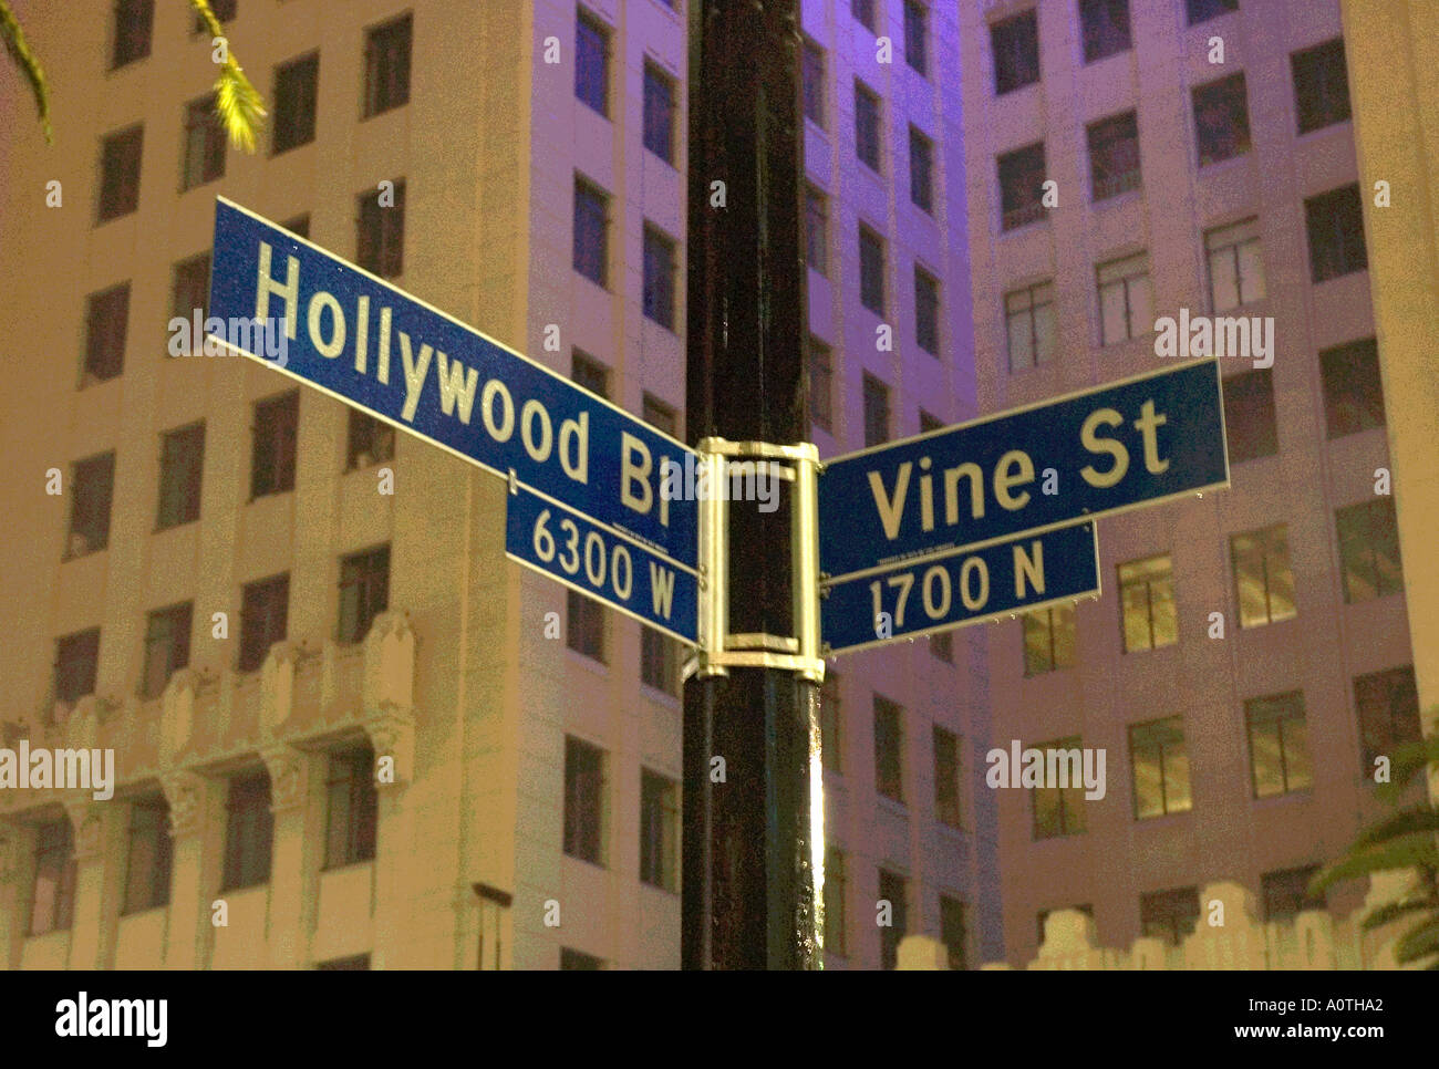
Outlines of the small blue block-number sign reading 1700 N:
{"type": "Polygon", "coordinates": [[[852,652],[1098,594],[1098,540],[1082,522],[827,583],[820,636],[826,653],[852,652]]]}

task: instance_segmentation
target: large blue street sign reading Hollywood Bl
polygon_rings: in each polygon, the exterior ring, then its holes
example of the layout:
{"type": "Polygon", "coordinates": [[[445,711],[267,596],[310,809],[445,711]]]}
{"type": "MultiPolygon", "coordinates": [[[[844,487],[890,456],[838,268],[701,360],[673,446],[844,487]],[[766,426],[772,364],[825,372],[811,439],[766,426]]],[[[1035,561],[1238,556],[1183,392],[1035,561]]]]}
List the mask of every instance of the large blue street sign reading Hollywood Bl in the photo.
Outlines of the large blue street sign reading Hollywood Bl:
{"type": "MultiPolygon", "coordinates": [[[[698,564],[682,443],[389,282],[216,199],[204,331],[481,468],[698,564]]],[[[514,501],[514,498],[511,498],[514,501]]],[[[581,580],[583,581],[583,580],[581,580]]],[[[583,588],[583,586],[580,587],[583,588]]]]}

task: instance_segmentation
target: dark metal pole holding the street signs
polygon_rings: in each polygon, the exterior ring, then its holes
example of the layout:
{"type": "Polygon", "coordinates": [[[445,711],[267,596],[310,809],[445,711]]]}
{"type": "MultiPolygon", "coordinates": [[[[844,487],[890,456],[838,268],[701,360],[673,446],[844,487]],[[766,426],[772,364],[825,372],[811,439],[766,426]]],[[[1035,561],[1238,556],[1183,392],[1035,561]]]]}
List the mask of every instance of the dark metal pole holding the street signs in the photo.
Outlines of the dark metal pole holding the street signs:
{"type": "MultiPolygon", "coordinates": [[[[799,0],[689,9],[689,442],[803,442],[799,0]]],[[[790,636],[789,509],[737,501],[730,517],[731,633],[790,636]]],[[[789,669],[686,681],[684,968],[819,968],[816,717],[789,669]]]]}

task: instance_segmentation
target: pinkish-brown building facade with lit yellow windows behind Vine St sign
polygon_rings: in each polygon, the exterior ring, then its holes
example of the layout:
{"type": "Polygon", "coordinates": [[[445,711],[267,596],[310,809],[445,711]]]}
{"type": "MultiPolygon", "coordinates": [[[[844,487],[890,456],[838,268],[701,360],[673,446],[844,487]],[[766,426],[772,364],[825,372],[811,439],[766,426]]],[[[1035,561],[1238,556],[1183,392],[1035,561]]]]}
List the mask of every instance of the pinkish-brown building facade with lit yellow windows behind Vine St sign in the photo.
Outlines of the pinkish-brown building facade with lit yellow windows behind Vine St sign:
{"type": "Polygon", "coordinates": [[[1312,866],[1417,734],[1384,478],[1404,399],[1380,384],[1340,6],[986,0],[960,20],[981,410],[1173,363],[1157,329],[1181,309],[1272,321],[1269,352],[1219,361],[1232,486],[1102,519],[1098,600],[991,629],[1002,745],[1104,750],[1108,773],[1097,800],[1000,791],[1007,957],[1033,958],[1058,908],[1101,945],[1174,942],[1216,881],[1265,919],[1322,905],[1312,866]]]}

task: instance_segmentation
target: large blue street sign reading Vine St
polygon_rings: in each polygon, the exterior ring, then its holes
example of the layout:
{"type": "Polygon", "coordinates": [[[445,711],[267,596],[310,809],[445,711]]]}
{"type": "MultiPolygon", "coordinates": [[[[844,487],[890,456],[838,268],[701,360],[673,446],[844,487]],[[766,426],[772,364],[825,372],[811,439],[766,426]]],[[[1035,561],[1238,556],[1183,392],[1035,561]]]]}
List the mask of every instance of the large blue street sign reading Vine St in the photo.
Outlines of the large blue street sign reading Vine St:
{"type": "Polygon", "coordinates": [[[1197,360],[826,462],[835,578],[1229,485],[1219,361],[1197,360]]]}

